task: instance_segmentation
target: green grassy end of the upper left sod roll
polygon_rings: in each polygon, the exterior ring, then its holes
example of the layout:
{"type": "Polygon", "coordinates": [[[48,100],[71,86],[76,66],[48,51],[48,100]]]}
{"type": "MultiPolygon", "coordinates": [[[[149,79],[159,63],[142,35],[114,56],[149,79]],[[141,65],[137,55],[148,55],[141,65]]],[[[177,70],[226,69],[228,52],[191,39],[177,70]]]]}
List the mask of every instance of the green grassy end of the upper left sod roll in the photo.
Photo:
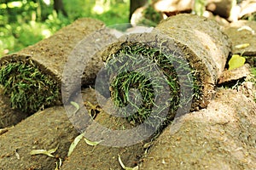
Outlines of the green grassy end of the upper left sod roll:
{"type": "Polygon", "coordinates": [[[1,65],[0,83],[12,107],[30,114],[55,104],[60,94],[57,82],[43,74],[32,60],[5,62],[1,65]]]}

